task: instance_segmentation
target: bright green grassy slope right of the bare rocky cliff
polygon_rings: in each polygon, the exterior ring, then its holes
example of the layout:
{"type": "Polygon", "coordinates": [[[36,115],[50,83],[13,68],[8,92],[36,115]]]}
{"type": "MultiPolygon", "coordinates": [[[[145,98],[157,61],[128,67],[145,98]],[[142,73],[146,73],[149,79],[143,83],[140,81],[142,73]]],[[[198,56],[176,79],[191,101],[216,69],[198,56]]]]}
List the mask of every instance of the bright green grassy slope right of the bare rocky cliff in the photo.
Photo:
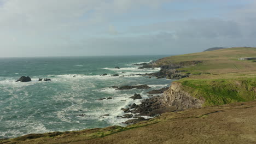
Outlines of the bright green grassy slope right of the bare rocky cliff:
{"type": "Polygon", "coordinates": [[[255,100],[256,77],[238,79],[179,80],[191,96],[205,99],[204,106],[255,100]]]}

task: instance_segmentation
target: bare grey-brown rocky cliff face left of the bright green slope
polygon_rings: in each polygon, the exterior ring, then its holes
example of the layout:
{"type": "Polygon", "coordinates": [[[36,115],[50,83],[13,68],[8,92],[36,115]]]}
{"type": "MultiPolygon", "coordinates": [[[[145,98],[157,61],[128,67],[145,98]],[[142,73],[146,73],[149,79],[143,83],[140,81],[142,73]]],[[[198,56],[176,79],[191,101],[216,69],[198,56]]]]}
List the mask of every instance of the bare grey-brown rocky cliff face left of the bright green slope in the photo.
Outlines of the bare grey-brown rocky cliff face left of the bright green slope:
{"type": "Polygon", "coordinates": [[[146,99],[140,105],[131,105],[131,112],[140,113],[139,115],[144,116],[155,116],[170,111],[182,111],[202,107],[205,100],[203,98],[196,99],[192,97],[185,90],[188,88],[179,82],[172,82],[171,87],[164,94],[146,99]]]}

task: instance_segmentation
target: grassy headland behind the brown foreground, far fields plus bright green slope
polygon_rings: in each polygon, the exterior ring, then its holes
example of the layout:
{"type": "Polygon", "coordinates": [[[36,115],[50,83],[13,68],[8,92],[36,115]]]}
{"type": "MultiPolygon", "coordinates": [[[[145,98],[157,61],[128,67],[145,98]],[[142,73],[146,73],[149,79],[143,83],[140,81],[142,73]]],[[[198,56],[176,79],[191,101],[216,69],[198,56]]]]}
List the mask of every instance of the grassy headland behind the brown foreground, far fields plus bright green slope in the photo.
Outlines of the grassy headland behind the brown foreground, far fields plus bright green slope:
{"type": "Polygon", "coordinates": [[[221,105],[256,100],[256,62],[238,61],[256,57],[254,47],[235,47],[162,58],[159,64],[182,64],[190,77],[179,80],[193,97],[205,99],[207,105],[221,105]],[[193,61],[200,63],[193,64],[193,61]]]}

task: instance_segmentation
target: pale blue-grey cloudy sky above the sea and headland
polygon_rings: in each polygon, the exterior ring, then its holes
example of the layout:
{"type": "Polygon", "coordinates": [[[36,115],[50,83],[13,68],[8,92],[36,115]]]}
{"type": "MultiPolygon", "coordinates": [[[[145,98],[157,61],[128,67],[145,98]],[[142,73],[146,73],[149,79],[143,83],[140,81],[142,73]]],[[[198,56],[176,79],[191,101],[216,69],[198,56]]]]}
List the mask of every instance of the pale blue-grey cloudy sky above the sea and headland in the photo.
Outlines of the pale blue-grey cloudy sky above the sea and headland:
{"type": "Polygon", "coordinates": [[[256,0],[0,0],[0,57],[256,47],[256,0]]]}

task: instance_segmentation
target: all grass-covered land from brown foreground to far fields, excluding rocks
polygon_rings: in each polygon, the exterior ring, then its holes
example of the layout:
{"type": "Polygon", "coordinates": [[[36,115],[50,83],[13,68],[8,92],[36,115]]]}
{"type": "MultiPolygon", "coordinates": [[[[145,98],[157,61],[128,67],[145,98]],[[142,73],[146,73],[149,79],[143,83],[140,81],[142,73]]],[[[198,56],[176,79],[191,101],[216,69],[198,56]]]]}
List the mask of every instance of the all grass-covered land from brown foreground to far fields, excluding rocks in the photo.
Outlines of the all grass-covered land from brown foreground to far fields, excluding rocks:
{"type": "Polygon", "coordinates": [[[125,128],[32,134],[0,143],[256,143],[256,102],[208,107],[255,100],[256,62],[238,61],[239,57],[256,57],[256,48],[191,53],[158,61],[186,66],[181,70],[192,75],[176,82],[193,97],[205,99],[202,109],[165,113],[125,128]]]}

